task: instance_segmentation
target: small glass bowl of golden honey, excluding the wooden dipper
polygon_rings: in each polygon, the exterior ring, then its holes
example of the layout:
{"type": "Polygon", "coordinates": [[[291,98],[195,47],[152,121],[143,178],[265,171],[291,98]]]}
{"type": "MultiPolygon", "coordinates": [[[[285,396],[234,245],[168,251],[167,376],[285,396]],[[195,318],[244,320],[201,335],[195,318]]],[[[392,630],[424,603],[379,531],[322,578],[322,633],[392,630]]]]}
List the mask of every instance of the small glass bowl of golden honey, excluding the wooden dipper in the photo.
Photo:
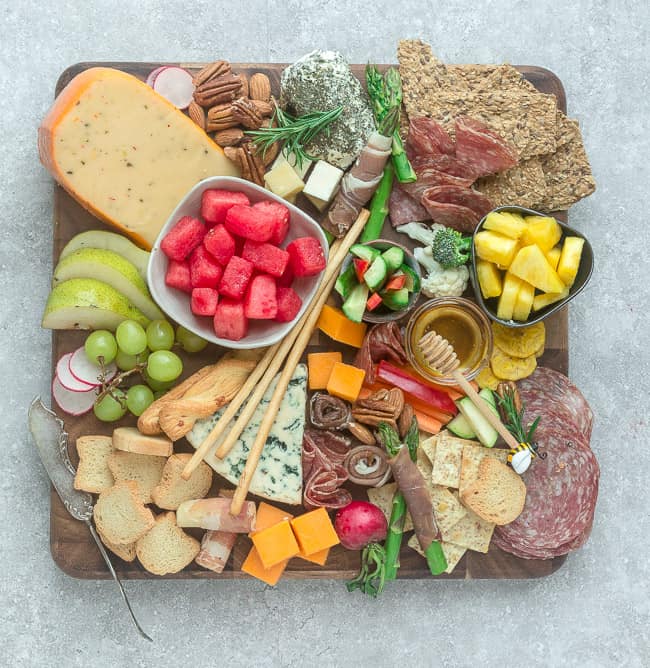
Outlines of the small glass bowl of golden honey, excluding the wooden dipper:
{"type": "Polygon", "coordinates": [[[428,332],[444,337],[454,348],[460,370],[471,379],[489,359],[492,330],[478,306],[467,299],[447,297],[423,304],[411,317],[406,329],[406,350],[411,364],[425,378],[438,383],[454,383],[432,369],[418,342],[428,332]]]}

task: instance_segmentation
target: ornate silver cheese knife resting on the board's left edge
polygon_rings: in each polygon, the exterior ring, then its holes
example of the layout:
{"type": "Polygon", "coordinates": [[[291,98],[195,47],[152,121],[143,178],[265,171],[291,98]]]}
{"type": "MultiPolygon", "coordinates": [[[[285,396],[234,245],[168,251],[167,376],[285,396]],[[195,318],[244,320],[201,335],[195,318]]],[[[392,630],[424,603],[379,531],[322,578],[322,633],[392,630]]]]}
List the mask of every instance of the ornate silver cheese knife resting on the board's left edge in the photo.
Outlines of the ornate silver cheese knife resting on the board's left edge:
{"type": "Polygon", "coordinates": [[[54,485],[54,489],[70,515],[76,520],[84,522],[88,527],[106,562],[106,566],[108,566],[108,570],[120,589],[120,593],[126,603],[126,607],[129,609],[135,627],[143,638],[153,642],[153,639],[144,632],[138,623],[124,587],[120,582],[120,578],[115,572],[110,557],[91,521],[93,516],[92,496],[88,492],[81,492],[75,489],[73,486],[75,469],[68,455],[68,434],[63,427],[63,420],[58,418],[56,413],[49,408],[46,408],[40,397],[36,397],[32,401],[29,407],[29,431],[32,434],[45,471],[54,485]]]}

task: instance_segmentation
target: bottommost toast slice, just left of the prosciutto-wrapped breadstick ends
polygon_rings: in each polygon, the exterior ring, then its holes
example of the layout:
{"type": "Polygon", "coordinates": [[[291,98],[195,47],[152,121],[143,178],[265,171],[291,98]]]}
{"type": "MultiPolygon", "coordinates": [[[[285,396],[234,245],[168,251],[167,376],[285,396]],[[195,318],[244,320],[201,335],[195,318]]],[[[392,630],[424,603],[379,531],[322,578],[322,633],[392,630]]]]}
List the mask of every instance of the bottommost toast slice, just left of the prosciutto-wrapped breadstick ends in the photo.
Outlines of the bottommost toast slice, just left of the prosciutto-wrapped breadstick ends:
{"type": "Polygon", "coordinates": [[[198,555],[201,544],[176,526],[176,514],[162,513],[136,543],[140,563],[154,575],[178,573],[198,555]]]}

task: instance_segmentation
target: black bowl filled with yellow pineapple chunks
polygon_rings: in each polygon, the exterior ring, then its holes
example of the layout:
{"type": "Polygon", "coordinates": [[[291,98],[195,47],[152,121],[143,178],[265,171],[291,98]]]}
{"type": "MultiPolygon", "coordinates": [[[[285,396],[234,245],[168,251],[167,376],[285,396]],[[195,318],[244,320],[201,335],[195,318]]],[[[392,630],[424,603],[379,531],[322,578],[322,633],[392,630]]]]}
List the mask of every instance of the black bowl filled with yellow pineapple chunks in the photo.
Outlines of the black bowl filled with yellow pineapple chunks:
{"type": "Polygon", "coordinates": [[[591,245],[577,230],[532,209],[502,206],[474,232],[470,277],[492,320],[526,327],[582,292],[593,265],[591,245]]]}

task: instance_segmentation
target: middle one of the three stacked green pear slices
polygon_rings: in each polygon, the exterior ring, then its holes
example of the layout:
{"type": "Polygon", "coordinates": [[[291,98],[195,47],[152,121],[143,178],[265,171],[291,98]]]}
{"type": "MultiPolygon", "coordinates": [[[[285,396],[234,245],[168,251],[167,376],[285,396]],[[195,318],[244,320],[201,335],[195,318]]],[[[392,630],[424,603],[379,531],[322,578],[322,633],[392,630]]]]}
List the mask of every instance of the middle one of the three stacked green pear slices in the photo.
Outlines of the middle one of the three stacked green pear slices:
{"type": "Polygon", "coordinates": [[[71,278],[95,278],[112,285],[150,320],[165,319],[156,306],[147,284],[131,262],[114,251],[80,248],[59,261],[54,269],[54,285],[71,278]]]}

